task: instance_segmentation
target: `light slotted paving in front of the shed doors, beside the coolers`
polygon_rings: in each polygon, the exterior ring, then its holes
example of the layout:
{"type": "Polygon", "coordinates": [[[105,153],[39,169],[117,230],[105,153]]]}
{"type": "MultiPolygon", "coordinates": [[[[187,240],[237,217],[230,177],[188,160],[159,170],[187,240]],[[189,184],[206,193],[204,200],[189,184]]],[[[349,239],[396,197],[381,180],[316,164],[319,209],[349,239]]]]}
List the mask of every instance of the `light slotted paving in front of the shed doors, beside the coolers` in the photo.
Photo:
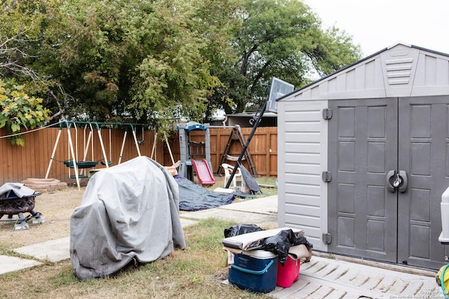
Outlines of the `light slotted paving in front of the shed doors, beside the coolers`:
{"type": "Polygon", "coordinates": [[[444,298],[433,273],[398,270],[313,256],[303,263],[300,279],[290,288],[276,288],[276,298],[444,298]]]}

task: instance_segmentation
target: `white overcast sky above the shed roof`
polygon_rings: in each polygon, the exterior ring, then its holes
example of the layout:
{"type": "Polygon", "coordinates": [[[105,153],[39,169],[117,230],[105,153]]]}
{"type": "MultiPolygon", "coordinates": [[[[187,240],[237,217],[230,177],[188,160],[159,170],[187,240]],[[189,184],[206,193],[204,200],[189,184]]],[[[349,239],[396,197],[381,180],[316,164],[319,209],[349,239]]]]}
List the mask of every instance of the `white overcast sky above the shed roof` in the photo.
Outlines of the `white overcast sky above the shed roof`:
{"type": "Polygon", "coordinates": [[[332,25],[352,36],[363,57],[396,43],[449,54],[448,0],[303,0],[332,25]]]}

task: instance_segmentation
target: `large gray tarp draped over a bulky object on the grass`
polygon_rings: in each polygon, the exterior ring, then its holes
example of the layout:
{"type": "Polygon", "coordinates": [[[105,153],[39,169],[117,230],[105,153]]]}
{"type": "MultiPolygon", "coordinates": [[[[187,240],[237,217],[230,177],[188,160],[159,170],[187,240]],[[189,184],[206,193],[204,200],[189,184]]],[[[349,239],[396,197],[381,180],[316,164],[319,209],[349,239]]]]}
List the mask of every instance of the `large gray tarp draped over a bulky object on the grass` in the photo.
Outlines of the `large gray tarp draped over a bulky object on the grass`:
{"type": "Polygon", "coordinates": [[[179,190],[159,163],[138,157],[102,169],[70,217],[70,258],[79,279],[105,277],[131,261],[185,249],[179,190]]]}

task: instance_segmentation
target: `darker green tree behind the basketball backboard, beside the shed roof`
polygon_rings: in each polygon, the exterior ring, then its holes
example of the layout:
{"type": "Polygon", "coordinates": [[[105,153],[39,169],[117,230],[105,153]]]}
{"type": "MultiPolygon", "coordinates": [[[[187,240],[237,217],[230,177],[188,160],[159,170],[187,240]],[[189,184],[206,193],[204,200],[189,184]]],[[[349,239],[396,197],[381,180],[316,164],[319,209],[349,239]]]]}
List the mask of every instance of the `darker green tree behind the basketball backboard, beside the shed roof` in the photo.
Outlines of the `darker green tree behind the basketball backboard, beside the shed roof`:
{"type": "Polygon", "coordinates": [[[210,97],[226,113],[244,111],[267,97],[272,76],[299,88],[312,74],[330,74],[358,60],[351,37],[321,20],[299,0],[243,0],[241,29],[232,45],[237,59],[223,65],[220,90],[210,97]],[[230,101],[229,99],[232,99],[230,101]]]}

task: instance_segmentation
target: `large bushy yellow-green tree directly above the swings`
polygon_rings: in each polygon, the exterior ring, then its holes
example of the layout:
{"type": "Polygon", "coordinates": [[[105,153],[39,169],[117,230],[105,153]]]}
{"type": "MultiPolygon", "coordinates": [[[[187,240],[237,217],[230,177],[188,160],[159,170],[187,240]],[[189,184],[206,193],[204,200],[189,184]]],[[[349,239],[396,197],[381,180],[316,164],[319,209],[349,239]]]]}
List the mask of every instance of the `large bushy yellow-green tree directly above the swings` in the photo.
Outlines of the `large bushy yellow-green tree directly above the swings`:
{"type": "Polygon", "coordinates": [[[74,97],[72,116],[158,127],[203,118],[219,81],[203,55],[209,40],[194,2],[76,0],[61,9],[58,76],[74,97]]]}

